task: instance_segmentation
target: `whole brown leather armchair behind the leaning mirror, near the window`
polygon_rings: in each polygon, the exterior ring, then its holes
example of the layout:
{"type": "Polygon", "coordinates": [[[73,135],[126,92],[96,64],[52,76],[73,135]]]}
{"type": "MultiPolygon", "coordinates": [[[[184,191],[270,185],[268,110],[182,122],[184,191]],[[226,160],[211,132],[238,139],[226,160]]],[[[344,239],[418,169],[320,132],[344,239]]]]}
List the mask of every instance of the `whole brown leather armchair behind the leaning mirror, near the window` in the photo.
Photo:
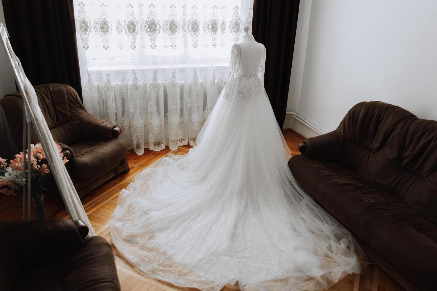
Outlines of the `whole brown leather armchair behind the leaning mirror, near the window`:
{"type": "MultiPolygon", "coordinates": [[[[66,168],[79,196],[83,196],[115,175],[129,171],[128,146],[117,138],[121,129],[87,112],[70,86],[46,84],[34,86],[53,139],[69,159],[66,168]]],[[[20,92],[0,101],[18,148],[23,148],[23,99],[20,92]]],[[[38,137],[32,130],[31,142],[38,137]]],[[[57,192],[56,192],[57,193],[57,192]]]]}

